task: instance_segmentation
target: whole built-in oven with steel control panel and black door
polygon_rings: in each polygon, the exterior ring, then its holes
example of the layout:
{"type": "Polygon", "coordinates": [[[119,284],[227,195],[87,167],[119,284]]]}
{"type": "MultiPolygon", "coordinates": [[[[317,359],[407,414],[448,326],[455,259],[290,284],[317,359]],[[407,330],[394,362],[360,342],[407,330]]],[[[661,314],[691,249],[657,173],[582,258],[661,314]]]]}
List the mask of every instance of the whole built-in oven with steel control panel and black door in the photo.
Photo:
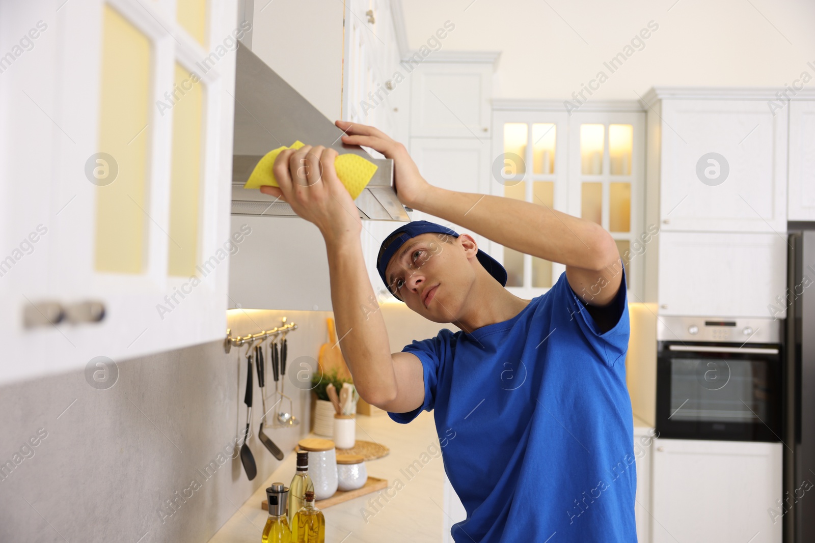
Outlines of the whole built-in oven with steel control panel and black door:
{"type": "Polygon", "coordinates": [[[657,323],[660,437],[781,440],[782,320],[661,316],[657,323]]]}

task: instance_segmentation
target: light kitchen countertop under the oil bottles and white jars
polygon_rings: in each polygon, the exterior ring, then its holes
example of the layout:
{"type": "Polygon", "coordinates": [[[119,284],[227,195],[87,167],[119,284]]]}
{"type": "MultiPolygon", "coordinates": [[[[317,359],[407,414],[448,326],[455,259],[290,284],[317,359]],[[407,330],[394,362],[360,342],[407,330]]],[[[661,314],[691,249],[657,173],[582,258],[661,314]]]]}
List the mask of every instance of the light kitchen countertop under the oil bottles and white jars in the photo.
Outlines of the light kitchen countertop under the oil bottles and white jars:
{"type": "MultiPolygon", "coordinates": [[[[372,417],[358,415],[357,424],[357,439],[375,441],[390,449],[385,457],[365,462],[368,475],[388,480],[388,487],[324,509],[325,541],[442,541],[444,466],[433,414],[422,411],[409,424],[395,423],[387,414],[372,417]],[[425,464],[420,460],[422,453],[430,456],[425,464]],[[434,453],[437,456],[434,457],[434,453]],[[413,471],[408,479],[407,466],[415,461],[419,461],[421,470],[418,473],[413,471]],[[398,484],[394,486],[397,479],[402,481],[403,487],[399,488],[398,484]],[[381,497],[378,506],[372,502],[377,496],[381,497]],[[363,510],[366,509],[370,515],[363,518],[363,510]]],[[[308,437],[320,436],[310,434],[308,437]]],[[[289,486],[296,462],[297,455],[293,451],[287,453],[280,466],[215,532],[209,543],[261,541],[262,530],[269,516],[261,508],[261,502],[266,499],[266,488],[275,482],[289,486]]]]}

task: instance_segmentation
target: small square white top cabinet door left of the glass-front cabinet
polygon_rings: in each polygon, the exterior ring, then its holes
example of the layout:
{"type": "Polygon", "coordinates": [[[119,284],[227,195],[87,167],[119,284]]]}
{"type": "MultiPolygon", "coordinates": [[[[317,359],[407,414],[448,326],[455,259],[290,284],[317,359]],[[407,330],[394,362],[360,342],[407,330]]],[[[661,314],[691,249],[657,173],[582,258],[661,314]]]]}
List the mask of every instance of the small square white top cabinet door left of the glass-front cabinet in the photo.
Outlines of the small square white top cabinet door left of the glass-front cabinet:
{"type": "Polygon", "coordinates": [[[411,137],[490,138],[492,63],[419,62],[416,55],[401,64],[411,78],[411,137]]]}

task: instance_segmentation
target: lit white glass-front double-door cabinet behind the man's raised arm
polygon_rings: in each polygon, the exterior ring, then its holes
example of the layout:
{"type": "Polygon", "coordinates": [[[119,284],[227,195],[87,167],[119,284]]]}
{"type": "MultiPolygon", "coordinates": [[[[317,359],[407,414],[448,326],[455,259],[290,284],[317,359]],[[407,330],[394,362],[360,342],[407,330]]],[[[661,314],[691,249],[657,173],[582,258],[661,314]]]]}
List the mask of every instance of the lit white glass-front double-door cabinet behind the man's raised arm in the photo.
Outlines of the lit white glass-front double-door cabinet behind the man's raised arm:
{"type": "MultiPolygon", "coordinates": [[[[566,112],[518,108],[493,113],[490,194],[521,199],[597,222],[617,243],[627,287],[641,297],[644,216],[641,111],[566,112]]],[[[648,239],[648,236],[645,237],[648,239]]],[[[491,243],[517,296],[540,296],[566,266],[491,243]]],[[[632,299],[632,301],[637,301],[632,299]]]]}

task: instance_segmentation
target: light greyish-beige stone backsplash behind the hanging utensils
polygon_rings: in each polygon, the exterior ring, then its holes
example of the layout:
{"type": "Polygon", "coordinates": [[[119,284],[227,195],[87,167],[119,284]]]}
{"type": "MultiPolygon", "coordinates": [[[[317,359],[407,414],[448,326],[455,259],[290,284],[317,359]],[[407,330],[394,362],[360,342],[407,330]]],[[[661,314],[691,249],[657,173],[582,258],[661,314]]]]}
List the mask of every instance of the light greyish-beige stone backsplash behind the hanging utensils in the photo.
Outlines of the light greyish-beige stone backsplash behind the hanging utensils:
{"type": "MultiPolygon", "coordinates": [[[[392,352],[446,327],[404,306],[383,304],[382,314],[392,352]]],[[[297,357],[318,357],[332,313],[233,310],[228,321],[245,335],[283,316],[299,326],[287,336],[294,373],[297,357]]],[[[246,479],[237,452],[228,456],[246,423],[243,353],[214,341],[116,361],[117,382],[106,390],[92,388],[84,370],[0,388],[0,464],[19,462],[0,472],[0,541],[208,541],[280,465],[256,436],[257,376],[249,439],[257,477],[246,479]]],[[[308,421],[310,392],[290,379],[285,390],[308,421]]],[[[288,454],[308,430],[304,422],[267,434],[288,454]]]]}

